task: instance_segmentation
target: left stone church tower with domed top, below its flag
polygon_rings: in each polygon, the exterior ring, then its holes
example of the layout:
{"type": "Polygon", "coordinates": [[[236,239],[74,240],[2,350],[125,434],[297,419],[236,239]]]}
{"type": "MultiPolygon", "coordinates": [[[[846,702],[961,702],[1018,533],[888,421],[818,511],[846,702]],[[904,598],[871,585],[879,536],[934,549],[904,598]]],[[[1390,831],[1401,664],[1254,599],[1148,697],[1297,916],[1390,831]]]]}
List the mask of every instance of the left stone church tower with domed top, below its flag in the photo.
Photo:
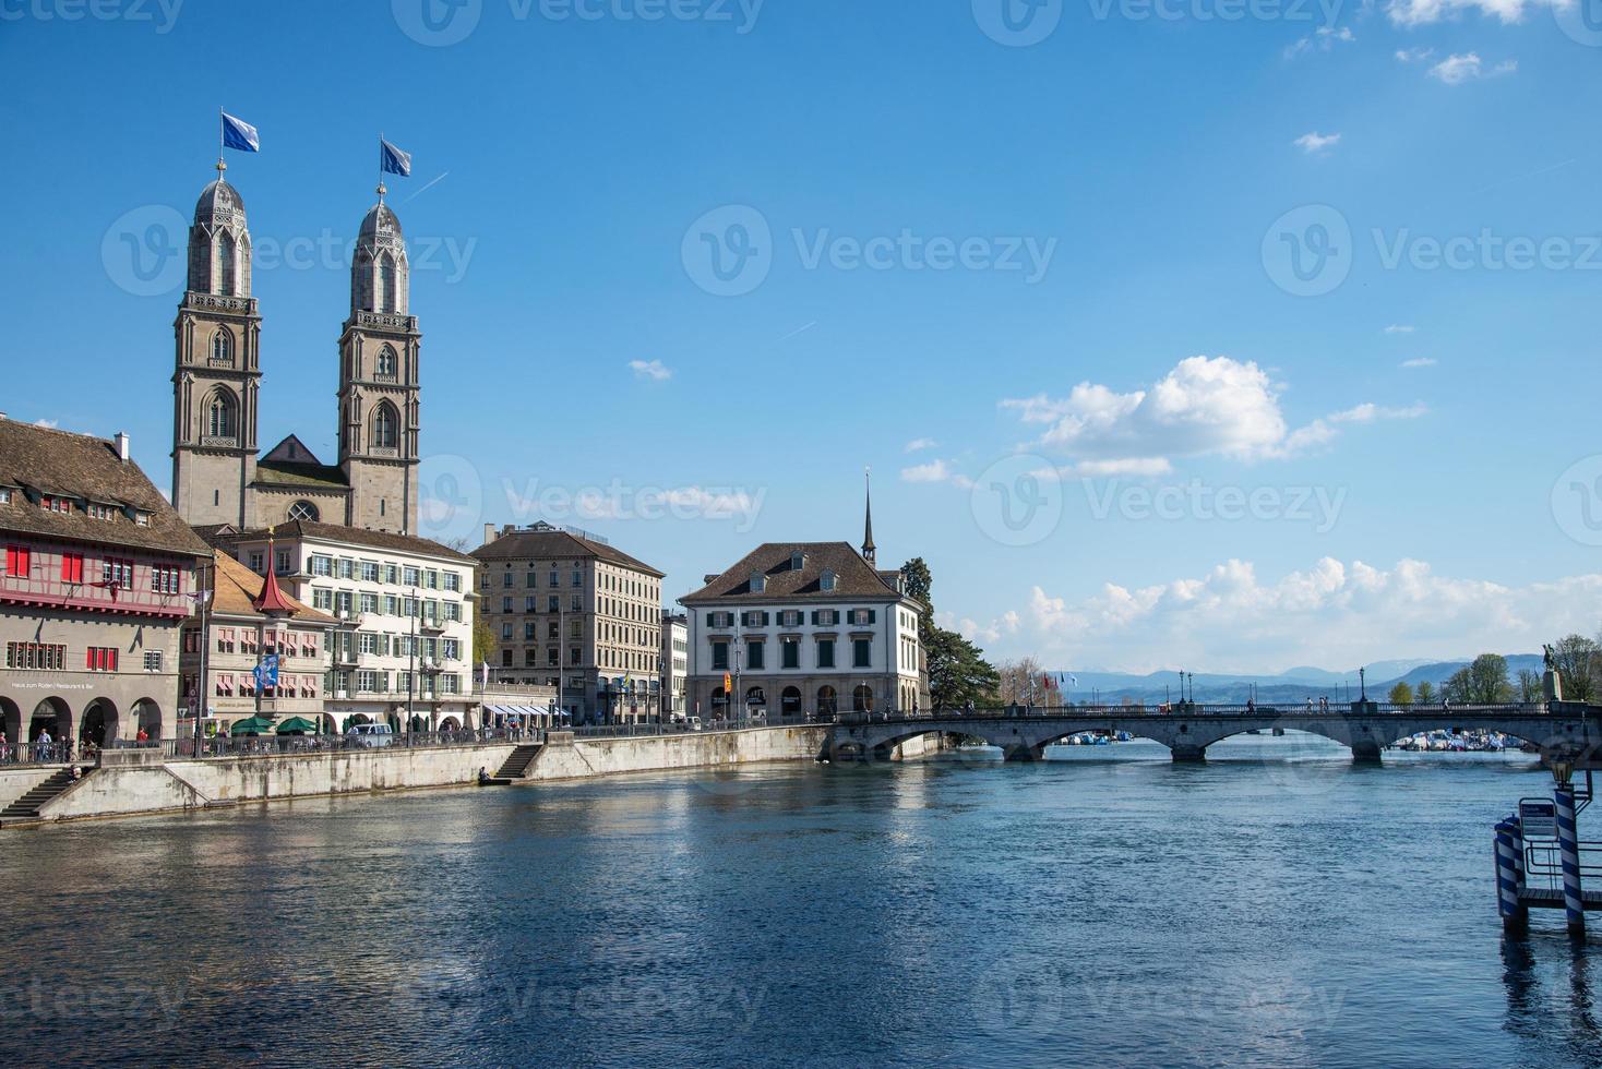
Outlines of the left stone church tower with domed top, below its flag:
{"type": "Polygon", "coordinates": [[[250,230],[239,190],[218,178],[195,203],[189,285],[173,370],[173,507],[194,525],[252,522],[261,317],[250,296],[250,230]]]}

